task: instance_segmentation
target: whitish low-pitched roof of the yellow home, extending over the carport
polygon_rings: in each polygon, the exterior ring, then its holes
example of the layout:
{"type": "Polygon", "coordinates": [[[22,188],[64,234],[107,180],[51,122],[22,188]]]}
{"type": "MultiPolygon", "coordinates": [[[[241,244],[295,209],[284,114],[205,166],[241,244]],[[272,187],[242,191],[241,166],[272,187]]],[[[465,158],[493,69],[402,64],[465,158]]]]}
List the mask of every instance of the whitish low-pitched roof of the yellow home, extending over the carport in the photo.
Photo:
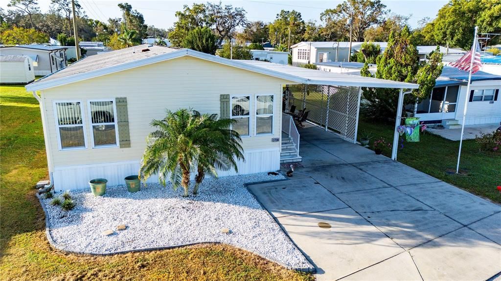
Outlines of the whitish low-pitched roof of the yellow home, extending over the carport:
{"type": "Polygon", "coordinates": [[[26,85],[26,88],[27,90],[39,90],[55,87],[186,55],[304,84],[418,88],[417,84],[412,83],[325,72],[265,61],[231,60],[191,49],[147,44],[83,58],[68,67],[26,85]]]}

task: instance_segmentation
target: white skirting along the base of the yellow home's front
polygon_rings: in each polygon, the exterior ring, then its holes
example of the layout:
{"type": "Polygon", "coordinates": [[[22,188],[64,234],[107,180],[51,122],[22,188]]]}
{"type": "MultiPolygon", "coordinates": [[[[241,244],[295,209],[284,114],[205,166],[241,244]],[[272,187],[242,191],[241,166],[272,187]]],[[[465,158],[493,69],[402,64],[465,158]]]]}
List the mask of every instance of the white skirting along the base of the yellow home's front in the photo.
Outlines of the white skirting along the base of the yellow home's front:
{"type": "MultiPolygon", "coordinates": [[[[268,172],[280,169],[280,151],[273,149],[253,149],[244,151],[245,162],[238,163],[238,174],[268,172]]],[[[124,177],[138,174],[139,160],[55,167],[53,171],[56,191],[89,188],[89,180],[106,178],[108,185],[125,184],[124,177]]],[[[236,174],[234,170],[221,171],[219,176],[236,174]]],[[[194,177],[195,173],[192,173],[194,177]]],[[[148,182],[158,182],[157,176],[148,182]]]]}

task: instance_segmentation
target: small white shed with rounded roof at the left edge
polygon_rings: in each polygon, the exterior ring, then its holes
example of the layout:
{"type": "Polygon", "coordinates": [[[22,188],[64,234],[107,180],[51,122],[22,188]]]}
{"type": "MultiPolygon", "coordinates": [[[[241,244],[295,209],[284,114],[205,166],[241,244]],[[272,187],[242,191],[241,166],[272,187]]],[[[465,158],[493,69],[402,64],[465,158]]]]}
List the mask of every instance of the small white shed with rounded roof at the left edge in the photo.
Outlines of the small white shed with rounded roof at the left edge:
{"type": "Polygon", "coordinates": [[[28,84],[35,80],[33,61],[26,55],[0,55],[0,83],[28,84]]]}

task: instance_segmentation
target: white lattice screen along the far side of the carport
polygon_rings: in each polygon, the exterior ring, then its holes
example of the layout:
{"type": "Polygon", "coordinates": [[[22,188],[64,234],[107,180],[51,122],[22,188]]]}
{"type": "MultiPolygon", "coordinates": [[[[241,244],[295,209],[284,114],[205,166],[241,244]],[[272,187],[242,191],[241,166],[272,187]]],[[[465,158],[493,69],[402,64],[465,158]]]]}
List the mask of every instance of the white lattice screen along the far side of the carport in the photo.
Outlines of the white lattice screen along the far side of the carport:
{"type": "Polygon", "coordinates": [[[338,132],[355,142],[359,103],[358,87],[328,85],[288,85],[289,106],[306,107],[308,120],[338,132]]]}

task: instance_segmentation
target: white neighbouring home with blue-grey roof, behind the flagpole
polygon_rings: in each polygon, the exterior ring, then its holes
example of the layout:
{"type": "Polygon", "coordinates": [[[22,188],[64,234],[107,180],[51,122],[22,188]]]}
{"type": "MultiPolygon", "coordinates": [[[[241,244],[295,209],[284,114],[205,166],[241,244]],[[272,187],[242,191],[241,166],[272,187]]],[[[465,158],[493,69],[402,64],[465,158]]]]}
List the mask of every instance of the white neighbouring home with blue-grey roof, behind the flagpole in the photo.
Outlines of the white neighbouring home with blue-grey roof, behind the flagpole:
{"type": "MultiPolygon", "coordinates": [[[[466,92],[468,72],[444,66],[430,96],[417,105],[416,117],[445,127],[461,124],[467,97],[465,125],[501,121],[501,76],[478,71],[471,75],[470,92],[466,92]]],[[[407,111],[413,111],[409,106],[407,111]]]]}

